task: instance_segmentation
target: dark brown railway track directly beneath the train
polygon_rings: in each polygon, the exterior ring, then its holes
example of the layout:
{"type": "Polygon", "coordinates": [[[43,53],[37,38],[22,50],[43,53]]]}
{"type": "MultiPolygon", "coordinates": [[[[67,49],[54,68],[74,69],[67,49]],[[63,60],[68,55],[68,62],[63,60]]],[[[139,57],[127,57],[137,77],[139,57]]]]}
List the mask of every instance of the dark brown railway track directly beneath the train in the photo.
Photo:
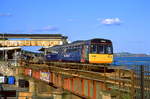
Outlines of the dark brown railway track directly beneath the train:
{"type": "Polygon", "coordinates": [[[21,61],[24,65],[41,65],[41,66],[55,66],[59,68],[77,69],[92,72],[114,72],[114,69],[123,69],[123,66],[111,66],[110,64],[88,64],[88,63],[73,63],[73,62],[41,62],[21,61]]]}

